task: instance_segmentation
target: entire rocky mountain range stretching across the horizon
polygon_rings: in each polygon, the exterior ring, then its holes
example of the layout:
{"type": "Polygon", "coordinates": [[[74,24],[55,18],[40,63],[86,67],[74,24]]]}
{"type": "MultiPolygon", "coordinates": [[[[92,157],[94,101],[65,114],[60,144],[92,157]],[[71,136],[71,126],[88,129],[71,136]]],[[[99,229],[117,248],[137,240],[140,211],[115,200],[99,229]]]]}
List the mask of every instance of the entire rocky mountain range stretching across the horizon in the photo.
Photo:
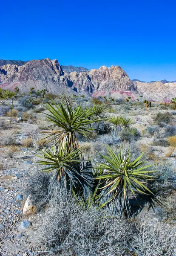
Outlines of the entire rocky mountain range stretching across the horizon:
{"type": "Polygon", "coordinates": [[[119,66],[88,70],[83,67],[60,66],[57,59],[45,58],[32,61],[0,62],[0,87],[21,92],[47,89],[50,93],[83,93],[92,96],[113,96],[114,98],[152,99],[169,101],[176,96],[176,83],[165,81],[131,81],[119,66]]]}

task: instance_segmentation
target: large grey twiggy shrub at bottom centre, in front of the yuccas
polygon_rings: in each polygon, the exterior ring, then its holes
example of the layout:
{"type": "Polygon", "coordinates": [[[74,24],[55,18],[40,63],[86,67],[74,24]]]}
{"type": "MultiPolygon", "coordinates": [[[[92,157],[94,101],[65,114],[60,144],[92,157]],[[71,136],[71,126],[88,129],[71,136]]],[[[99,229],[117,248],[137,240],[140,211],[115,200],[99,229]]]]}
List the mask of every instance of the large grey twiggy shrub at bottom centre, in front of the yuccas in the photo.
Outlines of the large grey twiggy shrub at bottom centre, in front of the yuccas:
{"type": "Polygon", "coordinates": [[[128,225],[122,218],[92,207],[82,209],[60,192],[50,202],[34,236],[50,253],[76,256],[123,255],[128,225]]]}

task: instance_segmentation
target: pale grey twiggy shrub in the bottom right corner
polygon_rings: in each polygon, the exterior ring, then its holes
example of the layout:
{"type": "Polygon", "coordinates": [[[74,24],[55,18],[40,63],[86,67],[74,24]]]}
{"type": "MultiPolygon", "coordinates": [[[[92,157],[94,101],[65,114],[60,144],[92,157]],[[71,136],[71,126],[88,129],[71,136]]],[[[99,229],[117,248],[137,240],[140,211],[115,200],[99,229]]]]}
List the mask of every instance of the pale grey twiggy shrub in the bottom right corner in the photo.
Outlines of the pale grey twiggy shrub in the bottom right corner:
{"type": "Polygon", "coordinates": [[[139,256],[175,256],[176,231],[162,223],[151,225],[148,221],[141,221],[133,225],[131,237],[132,251],[139,256]]]}

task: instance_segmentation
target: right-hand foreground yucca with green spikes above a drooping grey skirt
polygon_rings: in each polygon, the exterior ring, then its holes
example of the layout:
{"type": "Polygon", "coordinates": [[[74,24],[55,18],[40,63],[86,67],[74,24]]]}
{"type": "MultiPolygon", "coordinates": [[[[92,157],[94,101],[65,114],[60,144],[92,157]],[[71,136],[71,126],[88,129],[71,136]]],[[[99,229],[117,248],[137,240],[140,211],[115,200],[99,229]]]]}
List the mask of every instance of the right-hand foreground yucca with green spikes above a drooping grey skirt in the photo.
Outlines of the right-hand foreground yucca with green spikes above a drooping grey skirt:
{"type": "Polygon", "coordinates": [[[136,193],[153,194],[147,186],[146,181],[155,179],[148,175],[148,168],[152,165],[146,165],[146,161],[141,160],[143,154],[131,161],[131,154],[128,150],[122,156],[121,149],[117,154],[106,145],[108,155],[101,155],[105,163],[99,163],[98,169],[104,172],[95,177],[95,180],[101,180],[102,207],[109,207],[121,215],[130,215],[131,206],[129,203],[129,193],[136,198],[136,193]]]}

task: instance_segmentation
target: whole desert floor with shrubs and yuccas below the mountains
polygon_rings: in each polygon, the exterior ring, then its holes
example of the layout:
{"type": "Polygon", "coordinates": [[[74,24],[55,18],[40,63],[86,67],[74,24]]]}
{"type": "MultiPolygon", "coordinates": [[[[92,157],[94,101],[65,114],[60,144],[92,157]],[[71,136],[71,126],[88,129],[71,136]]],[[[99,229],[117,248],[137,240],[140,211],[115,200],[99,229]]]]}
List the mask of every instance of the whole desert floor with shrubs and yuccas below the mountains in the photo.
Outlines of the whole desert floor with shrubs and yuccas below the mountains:
{"type": "Polygon", "coordinates": [[[2,255],[176,256],[174,110],[42,95],[0,105],[2,255]]]}

